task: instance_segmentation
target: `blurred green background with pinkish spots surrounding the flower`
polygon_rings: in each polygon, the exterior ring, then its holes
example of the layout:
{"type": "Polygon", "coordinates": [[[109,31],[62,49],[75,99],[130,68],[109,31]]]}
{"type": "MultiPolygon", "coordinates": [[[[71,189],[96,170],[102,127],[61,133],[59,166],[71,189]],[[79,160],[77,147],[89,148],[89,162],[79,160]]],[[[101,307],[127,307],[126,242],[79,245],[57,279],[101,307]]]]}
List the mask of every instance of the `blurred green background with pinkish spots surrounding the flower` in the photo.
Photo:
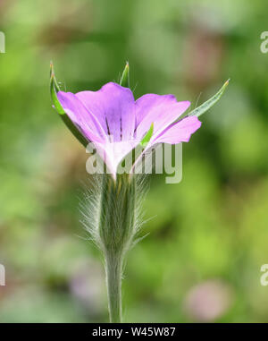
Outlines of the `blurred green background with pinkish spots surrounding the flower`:
{"type": "Polygon", "coordinates": [[[183,179],[152,176],[150,233],[130,251],[126,322],[268,322],[267,2],[2,0],[1,322],[107,321],[103,261],[80,225],[88,155],[51,107],[98,90],[130,61],[136,98],[221,101],[183,145],[183,179]]]}

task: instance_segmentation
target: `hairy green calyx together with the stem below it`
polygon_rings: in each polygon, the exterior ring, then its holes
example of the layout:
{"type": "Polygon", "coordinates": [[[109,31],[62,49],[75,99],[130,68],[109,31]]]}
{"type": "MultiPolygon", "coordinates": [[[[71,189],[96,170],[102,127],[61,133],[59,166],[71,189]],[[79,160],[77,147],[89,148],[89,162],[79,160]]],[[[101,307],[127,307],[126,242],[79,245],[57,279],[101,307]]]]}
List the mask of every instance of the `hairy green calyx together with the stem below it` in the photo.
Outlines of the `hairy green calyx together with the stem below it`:
{"type": "Polygon", "coordinates": [[[111,322],[121,322],[121,275],[123,259],[137,243],[140,202],[144,183],[129,175],[96,178],[87,193],[84,217],[92,240],[105,258],[106,286],[111,322]]]}

